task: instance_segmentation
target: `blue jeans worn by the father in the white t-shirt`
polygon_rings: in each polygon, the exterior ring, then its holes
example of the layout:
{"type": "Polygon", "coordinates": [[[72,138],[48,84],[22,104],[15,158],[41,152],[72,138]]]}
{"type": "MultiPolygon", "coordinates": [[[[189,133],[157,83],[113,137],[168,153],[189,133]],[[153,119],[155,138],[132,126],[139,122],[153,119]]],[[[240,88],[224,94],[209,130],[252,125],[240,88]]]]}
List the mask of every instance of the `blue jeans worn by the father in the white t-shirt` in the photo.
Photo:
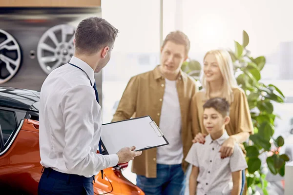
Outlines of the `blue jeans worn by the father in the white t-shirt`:
{"type": "Polygon", "coordinates": [[[137,175],[136,185],[146,195],[183,195],[185,175],[181,164],[157,164],[157,177],[137,175]]]}

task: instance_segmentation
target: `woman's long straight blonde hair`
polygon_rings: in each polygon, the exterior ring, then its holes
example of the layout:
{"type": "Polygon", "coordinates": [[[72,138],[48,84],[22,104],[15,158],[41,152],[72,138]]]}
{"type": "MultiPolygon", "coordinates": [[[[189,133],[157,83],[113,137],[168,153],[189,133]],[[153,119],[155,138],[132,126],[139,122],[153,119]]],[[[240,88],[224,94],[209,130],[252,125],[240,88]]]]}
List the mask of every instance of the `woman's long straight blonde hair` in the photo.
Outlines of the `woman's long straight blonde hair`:
{"type": "MultiPolygon", "coordinates": [[[[230,54],[228,51],[224,49],[217,49],[217,50],[210,50],[206,53],[204,60],[206,57],[212,54],[215,56],[219,69],[221,71],[222,77],[223,77],[223,97],[226,98],[226,100],[231,103],[234,100],[233,96],[233,88],[238,87],[236,78],[234,77],[234,71],[233,71],[233,63],[232,59],[230,57],[230,54]]],[[[205,74],[202,76],[202,85],[205,89],[205,97],[207,99],[210,98],[210,88],[209,88],[209,82],[206,80],[205,74]]]]}

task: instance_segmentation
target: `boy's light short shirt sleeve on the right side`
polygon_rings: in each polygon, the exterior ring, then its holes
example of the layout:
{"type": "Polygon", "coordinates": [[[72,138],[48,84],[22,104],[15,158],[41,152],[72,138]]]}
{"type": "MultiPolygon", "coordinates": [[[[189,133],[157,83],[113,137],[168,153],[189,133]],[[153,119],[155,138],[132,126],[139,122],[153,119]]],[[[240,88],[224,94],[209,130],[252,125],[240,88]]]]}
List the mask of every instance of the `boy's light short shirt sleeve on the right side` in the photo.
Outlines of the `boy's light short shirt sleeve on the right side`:
{"type": "Polygon", "coordinates": [[[230,157],[230,170],[231,172],[241,171],[246,169],[247,162],[243,155],[241,148],[236,144],[234,148],[234,152],[230,157]]]}

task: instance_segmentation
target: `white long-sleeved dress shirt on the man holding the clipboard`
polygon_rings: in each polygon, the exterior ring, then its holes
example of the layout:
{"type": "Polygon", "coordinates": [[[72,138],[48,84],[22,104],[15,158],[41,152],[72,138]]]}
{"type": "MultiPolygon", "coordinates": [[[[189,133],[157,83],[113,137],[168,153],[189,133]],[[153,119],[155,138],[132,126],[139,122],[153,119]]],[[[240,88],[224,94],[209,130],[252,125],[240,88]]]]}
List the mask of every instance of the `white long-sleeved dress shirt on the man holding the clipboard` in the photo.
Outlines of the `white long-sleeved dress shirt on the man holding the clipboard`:
{"type": "Polygon", "coordinates": [[[42,84],[40,98],[41,164],[85,177],[115,166],[118,156],[97,154],[102,112],[96,101],[93,69],[81,59],[53,70],[42,84]],[[92,85],[91,85],[92,84],[92,85]]]}

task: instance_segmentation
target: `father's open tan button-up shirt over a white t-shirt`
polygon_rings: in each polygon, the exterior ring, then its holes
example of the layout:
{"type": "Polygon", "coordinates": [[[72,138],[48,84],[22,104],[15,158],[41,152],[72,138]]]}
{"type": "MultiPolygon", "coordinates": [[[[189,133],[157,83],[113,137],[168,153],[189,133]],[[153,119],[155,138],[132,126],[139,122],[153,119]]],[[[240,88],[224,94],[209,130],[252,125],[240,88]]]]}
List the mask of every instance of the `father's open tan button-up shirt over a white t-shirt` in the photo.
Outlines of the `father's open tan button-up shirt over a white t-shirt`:
{"type": "MultiPolygon", "coordinates": [[[[190,103],[196,93],[195,80],[186,73],[180,72],[176,80],[176,88],[181,110],[181,137],[183,143],[183,170],[188,163],[184,161],[192,145],[194,135],[191,130],[190,103]]],[[[132,116],[142,117],[149,115],[159,126],[160,115],[165,92],[165,78],[160,73],[159,66],[154,70],[132,77],[128,82],[119,102],[112,121],[129,119],[132,116]]],[[[141,156],[134,158],[132,172],[148,178],[157,176],[157,149],[143,151],[141,156]]]]}

